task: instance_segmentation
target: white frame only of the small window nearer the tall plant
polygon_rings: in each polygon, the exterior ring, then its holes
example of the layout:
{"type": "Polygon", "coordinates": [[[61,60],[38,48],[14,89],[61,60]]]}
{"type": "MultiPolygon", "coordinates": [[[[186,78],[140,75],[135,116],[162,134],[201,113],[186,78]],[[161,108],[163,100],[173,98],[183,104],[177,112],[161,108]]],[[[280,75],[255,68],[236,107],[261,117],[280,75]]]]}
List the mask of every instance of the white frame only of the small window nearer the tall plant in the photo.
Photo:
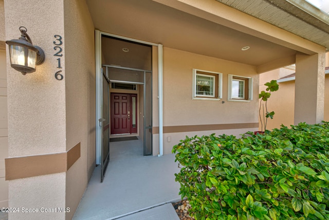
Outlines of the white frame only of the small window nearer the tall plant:
{"type": "MultiPolygon", "coordinates": [[[[250,102],[252,100],[252,91],[253,91],[253,83],[252,83],[252,78],[251,77],[243,77],[243,76],[237,76],[237,75],[228,75],[228,86],[227,86],[227,101],[234,101],[234,102],[250,102]],[[233,78],[237,77],[237,78],[242,78],[242,80],[240,79],[234,79],[236,81],[244,81],[244,86],[246,86],[246,81],[248,80],[248,100],[245,99],[245,94],[243,96],[243,98],[241,97],[232,97],[232,81],[233,78]],[[246,80],[243,80],[246,79],[246,80]]],[[[244,87],[244,91],[245,91],[245,87],[244,87]]],[[[245,92],[244,92],[245,93],[245,92]]]]}

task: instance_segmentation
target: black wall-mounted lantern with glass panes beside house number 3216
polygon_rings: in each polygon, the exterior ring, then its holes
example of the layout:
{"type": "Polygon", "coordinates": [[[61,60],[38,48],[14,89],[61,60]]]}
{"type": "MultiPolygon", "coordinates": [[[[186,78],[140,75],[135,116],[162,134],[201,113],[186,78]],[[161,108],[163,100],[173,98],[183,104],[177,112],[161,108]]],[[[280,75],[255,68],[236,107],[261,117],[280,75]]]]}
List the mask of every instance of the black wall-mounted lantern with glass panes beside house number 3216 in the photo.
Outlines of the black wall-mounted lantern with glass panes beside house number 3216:
{"type": "Polygon", "coordinates": [[[6,43],[9,46],[11,67],[26,75],[35,71],[35,65],[40,65],[45,61],[45,53],[40,47],[33,46],[25,27],[20,27],[20,31],[19,39],[6,41],[6,43]]]}

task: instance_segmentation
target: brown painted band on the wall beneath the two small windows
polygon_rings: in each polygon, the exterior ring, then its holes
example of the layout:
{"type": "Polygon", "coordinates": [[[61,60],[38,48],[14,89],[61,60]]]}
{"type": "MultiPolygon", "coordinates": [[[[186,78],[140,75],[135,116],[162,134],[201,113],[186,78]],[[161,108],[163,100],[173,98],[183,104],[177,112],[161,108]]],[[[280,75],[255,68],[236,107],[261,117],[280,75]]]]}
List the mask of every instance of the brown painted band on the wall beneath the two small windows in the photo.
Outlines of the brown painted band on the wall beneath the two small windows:
{"type": "MultiPolygon", "coordinates": [[[[163,133],[178,132],[199,132],[229,129],[253,129],[258,128],[259,123],[235,123],[235,124],[199,124],[199,125],[180,125],[180,126],[164,126],[163,133]]],[[[159,134],[159,127],[153,127],[153,134],[159,134]]]]}

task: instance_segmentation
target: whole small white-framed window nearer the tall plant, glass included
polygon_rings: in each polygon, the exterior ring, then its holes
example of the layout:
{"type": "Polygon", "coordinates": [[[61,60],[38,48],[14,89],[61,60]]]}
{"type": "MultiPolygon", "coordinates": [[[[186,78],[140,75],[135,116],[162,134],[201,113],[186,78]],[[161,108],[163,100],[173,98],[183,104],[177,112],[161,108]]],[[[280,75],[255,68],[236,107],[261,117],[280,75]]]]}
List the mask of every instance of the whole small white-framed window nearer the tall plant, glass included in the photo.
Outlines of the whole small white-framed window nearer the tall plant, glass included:
{"type": "Polygon", "coordinates": [[[252,100],[252,78],[228,75],[228,101],[252,100]]]}

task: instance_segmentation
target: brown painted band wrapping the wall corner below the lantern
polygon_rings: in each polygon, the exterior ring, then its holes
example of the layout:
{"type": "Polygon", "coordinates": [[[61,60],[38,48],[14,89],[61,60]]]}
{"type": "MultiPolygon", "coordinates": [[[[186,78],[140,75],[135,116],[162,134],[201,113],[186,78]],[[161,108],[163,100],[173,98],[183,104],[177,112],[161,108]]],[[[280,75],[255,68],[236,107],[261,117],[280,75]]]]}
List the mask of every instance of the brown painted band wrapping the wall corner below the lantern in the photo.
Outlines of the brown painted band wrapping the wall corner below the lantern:
{"type": "Polygon", "coordinates": [[[66,172],[80,158],[80,151],[79,142],[64,153],[6,158],[6,180],[66,172]]]}

